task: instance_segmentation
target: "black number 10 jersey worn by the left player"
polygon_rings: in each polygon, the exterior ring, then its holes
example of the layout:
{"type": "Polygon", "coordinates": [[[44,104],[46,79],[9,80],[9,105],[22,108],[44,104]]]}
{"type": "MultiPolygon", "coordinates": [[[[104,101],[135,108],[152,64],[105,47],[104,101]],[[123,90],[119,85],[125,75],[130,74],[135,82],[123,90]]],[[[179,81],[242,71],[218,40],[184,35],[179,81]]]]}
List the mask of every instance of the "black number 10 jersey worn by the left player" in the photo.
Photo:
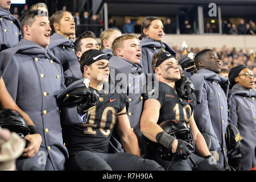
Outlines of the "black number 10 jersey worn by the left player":
{"type": "Polygon", "coordinates": [[[63,126],[63,138],[69,154],[82,150],[108,152],[117,113],[129,101],[123,93],[97,93],[100,97],[96,105],[88,110],[88,119],[84,123],[63,126]]]}

